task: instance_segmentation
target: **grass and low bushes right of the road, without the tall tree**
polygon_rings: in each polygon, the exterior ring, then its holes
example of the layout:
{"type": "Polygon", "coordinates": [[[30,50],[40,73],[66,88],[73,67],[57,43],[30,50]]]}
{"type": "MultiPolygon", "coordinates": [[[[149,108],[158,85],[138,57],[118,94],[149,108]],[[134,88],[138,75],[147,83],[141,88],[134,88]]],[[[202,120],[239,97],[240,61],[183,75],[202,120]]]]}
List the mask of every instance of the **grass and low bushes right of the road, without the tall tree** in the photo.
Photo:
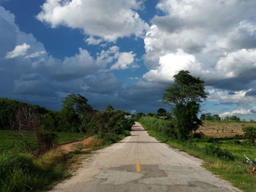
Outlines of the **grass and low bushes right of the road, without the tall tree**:
{"type": "MultiPolygon", "coordinates": [[[[248,137],[248,139],[231,137],[223,140],[202,133],[194,133],[186,141],[181,141],[175,134],[173,135],[175,126],[173,120],[142,117],[139,123],[159,141],[203,159],[206,161],[203,165],[206,169],[230,181],[237,188],[243,191],[255,191],[255,166],[246,163],[244,154],[252,160],[256,158],[256,145],[248,137]]],[[[256,130],[256,128],[253,129],[256,130]]]]}

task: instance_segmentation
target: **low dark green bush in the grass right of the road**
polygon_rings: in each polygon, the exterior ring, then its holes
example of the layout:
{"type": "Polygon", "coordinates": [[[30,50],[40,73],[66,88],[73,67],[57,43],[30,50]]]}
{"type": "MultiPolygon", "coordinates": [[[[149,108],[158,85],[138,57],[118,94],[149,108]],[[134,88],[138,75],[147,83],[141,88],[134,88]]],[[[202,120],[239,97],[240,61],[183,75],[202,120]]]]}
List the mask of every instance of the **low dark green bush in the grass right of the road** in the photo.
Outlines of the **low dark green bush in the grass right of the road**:
{"type": "Polygon", "coordinates": [[[233,161],[235,159],[229,151],[223,150],[218,145],[206,145],[203,150],[206,155],[217,157],[226,161],[233,161]]]}

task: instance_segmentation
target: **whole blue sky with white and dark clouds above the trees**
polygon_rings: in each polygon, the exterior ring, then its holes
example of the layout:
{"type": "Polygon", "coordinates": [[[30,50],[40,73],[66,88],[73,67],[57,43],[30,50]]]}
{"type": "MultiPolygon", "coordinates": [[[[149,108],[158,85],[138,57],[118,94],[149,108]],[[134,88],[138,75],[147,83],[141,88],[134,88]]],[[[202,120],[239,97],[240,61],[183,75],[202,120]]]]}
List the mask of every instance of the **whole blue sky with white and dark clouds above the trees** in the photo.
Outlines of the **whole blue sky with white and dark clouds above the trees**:
{"type": "Polygon", "coordinates": [[[205,80],[200,113],[256,120],[255,0],[0,0],[0,97],[60,110],[157,112],[173,75],[205,80]]]}

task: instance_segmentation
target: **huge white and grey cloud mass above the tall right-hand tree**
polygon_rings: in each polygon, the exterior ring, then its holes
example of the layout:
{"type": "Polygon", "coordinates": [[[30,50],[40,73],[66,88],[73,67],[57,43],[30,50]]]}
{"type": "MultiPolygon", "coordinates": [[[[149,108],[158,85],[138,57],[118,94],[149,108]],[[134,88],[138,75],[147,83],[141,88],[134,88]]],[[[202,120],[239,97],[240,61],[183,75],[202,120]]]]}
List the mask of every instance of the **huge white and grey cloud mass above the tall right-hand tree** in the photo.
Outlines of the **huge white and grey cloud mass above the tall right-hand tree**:
{"type": "Polygon", "coordinates": [[[255,7],[253,0],[159,1],[163,14],[154,16],[144,39],[149,72],[143,77],[170,82],[187,69],[216,88],[254,88],[255,7]]]}

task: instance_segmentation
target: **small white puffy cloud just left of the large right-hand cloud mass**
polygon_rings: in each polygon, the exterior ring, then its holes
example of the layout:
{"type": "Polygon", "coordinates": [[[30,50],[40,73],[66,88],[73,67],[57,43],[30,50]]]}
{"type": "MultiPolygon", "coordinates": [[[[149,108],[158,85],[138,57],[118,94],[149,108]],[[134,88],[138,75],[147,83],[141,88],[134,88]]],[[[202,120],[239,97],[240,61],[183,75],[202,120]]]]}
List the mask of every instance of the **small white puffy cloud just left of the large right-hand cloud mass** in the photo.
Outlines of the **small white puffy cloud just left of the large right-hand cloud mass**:
{"type": "Polygon", "coordinates": [[[118,59],[116,61],[116,64],[113,64],[113,66],[110,67],[111,70],[118,70],[118,69],[128,69],[129,66],[133,64],[135,61],[135,53],[129,52],[123,52],[118,54],[118,59]]]}

